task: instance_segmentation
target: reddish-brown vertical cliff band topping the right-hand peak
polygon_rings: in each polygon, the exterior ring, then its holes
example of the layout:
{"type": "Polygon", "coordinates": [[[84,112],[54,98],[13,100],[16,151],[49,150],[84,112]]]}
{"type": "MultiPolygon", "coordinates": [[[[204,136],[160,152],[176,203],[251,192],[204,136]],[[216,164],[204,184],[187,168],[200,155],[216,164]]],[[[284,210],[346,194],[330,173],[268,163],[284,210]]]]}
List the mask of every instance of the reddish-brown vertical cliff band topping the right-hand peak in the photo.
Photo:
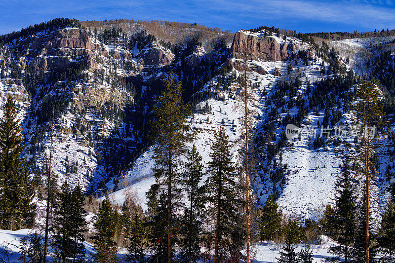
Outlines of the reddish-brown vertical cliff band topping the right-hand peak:
{"type": "Polygon", "coordinates": [[[266,37],[266,33],[254,34],[251,32],[238,31],[233,39],[231,51],[236,58],[242,58],[246,51],[249,59],[264,61],[281,61],[289,57],[294,51],[295,45],[288,45],[286,41],[280,45],[276,38],[266,37]],[[291,52],[289,51],[291,47],[291,52]]]}

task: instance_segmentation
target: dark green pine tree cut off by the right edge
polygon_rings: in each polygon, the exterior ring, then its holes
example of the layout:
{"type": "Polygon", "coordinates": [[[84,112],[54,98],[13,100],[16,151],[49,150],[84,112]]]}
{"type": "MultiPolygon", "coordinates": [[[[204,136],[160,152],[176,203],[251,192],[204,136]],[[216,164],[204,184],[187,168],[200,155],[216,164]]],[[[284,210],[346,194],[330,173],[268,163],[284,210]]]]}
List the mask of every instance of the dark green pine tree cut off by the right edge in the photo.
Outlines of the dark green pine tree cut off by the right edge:
{"type": "Polygon", "coordinates": [[[393,262],[395,251],[395,204],[388,201],[381,219],[379,229],[379,243],[388,255],[388,262],[393,262]]]}

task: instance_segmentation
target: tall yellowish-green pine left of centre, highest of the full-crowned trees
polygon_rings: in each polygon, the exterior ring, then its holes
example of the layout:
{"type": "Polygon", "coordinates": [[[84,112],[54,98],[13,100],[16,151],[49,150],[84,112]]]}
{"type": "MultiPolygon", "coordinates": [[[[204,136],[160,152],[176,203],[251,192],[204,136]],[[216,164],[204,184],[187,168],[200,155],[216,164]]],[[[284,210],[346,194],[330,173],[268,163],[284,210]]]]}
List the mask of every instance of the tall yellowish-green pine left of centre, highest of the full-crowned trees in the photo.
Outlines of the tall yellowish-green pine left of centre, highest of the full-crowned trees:
{"type": "Polygon", "coordinates": [[[153,123],[153,139],[155,168],[154,175],[157,184],[167,187],[167,262],[172,260],[172,238],[174,238],[173,212],[180,205],[181,189],[177,185],[181,182],[177,172],[181,163],[181,156],[185,153],[185,143],[190,139],[186,134],[189,126],[186,117],[190,113],[189,107],[182,99],[183,88],[181,82],[172,76],[164,80],[164,90],[157,97],[154,106],[156,121],[153,123]]]}

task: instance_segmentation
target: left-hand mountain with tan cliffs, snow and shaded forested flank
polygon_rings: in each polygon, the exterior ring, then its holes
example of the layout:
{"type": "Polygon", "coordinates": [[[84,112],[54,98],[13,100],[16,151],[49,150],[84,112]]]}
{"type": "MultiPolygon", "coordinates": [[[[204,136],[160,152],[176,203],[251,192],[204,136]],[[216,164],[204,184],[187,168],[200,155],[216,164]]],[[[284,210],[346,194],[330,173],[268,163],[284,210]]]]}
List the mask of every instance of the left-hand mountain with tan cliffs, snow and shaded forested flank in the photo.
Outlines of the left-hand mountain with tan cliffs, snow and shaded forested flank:
{"type": "Polygon", "coordinates": [[[201,66],[208,54],[196,43],[176,57],[171,45],[164,47],[148,36],[130,46],[130,36],[87,32],[43,30],[0,47],[5,74],[0,106],[7,96],[18,102],[24,156],[30,172],[42,174],[49,160],[54,110],[52,168],[58,183],[79,183],[93,192],[120,178],[147,147],[148,122],[162,79],[173,71],[182,76],[187,92],[195,93],[212,73],[202,67],[221,65],[228,54],[211,54],[212,60],[201,66]]]}

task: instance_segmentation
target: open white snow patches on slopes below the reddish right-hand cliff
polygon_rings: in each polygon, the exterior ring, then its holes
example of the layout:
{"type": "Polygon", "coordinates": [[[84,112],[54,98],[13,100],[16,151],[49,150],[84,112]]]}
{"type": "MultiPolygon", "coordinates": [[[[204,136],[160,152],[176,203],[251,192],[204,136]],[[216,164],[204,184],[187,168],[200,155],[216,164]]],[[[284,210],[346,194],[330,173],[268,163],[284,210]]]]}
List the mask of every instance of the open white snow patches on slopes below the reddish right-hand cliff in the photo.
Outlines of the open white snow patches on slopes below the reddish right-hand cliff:
{"type": "MultiPolygon", "coordinates": [[[[297,39],[293,39],[295,43],[301,42],[297,39]]],[[[304,48],[305,49],[305,48],[304,48]]],[[[240,61],[240,60],[238,60],[240,61]]],[[[240,61],[241,62],[241,61],[240,61]]],[[[233,59],[233,63],[237,64],[237,59],[233,59]]],[[[252,60],[248,62],[248,66],[251,69],[257,66],[264,69],[269,74],[261,75],[254,71],[248,73],[248,77],[251,81],[252,88],[252,99],[249,101],[249,108],[255,112],[254,118],[254,131],[258,134],[261,132],[262,126],[267,123],[268,114],[271,111],[272,103],[270,98],[276,92],[276,83],[285,79],[284,76],[299,74],[303,75],[303,80],[314,82],[322,79],[320,75],[320,65],[322,60],[317,58],[316,61],[310,60],[308,66],[303,64],[302,59],[295,59],[289,61],[258,61],[252,60]],[[312,65],[311,65],[312,64],[312,65]],[[289,75],[287,74],[288,65],[293,66],[293,71],[289,75]],[[275,71],[278,69],[281,76],[275,76],[275,71]],[[267,92],[267,100],[262,97],[263,92],[267,92]],[[260,120],[257,119],[258,114],[260,120]]],[[[327,67],[327,64],[326,64],[327,67]]],[[[238,75],[242,74],[234,69],[234,73],[238,75]]],[[[197,150],[203,157],[205,164],[210,161],[210,145],[213,142],[213,133],[218,130],[220,126],[226,128],[226,132],[230,137],[230,142],[233,144],[234,162],[236,166],[241,165],[240,149],[242,148],[242,119],[243,111],[240,108],[243,104],[243,98],[240,91],[242,87],[234,81],[230,87],[221,88],[217,87],[218,79],[212,78],[207,82],[201,91],[210,91],[212,94],[211,99],[207,99],[200,103],[200,107],[204,108],[206,104],[211,109],[209,113],[194,113],[193,116],[187,119],[191,124],[191,129],[196,131],[196,137],[193,144],[196,145],[197,150]]],[[[302,84],[299,92],[303,92],[306,89],[306,84],[302,84]]],[[[307,97],[307,96],[306,96],[307,97]]],[[[307,99],[306,99],[307,100],[307,99]]],[[[287,113],[292,115],[297,113],[297,108],[290,109],[286,113],[281,113],[284,117],[287,113]]],[[[312,125],[317,120],[322,122],[323,112],[315,116],[310,113],[306,118],[310,119],[312,125]]],[[[277,129],[276,133],[281,134],[282,130],[277,129]]],[[[328,149],[325,151],[318,151],[309,149],[308,139],[303,138],[302,141],[294,143],[293,147],[286,147],[283,149],[282,163],[287,163],[291,171],[291,176],[287,178],[287,185],[282,191],[278,199],[278,204],[287,216],[303,218],[314,218],[316,219],[323,206],[331,202],[334,197],[334,182],[336,180],[336,174],[339,173],[339,165],[342,163],[342,159],[339,158],[339,153],[334,152],[334,149],[328,149]],[[324,167],[325,166],[325,167],[324,167]]],[[[242,152],[242,151],[241,151],[242,152]]],[[[145,192],[149,186],[155,182],[152,177],[152,170],[154,162],[152,160],[152,151],[148,150],[142,156],[140,156],[134,169],[127,172],[128,180],[130,182],[137,182],[129,188],[137,189],[138,195],[145,208],[145,192]]],[[[263,171],[259,171],[262,173],[263,171]]],[[[265,175],[269,176],[269,175],[265,175]]],[[[267,177],[263,177],[264,180],[259,179],[259,176],[255,176],[255,181],[251,182],[255,193],[257,194],[257,203],[264,204],[266,198],[271,193],[273,186],[269,182],[267,177]],[[262,195],[259,193],[263,192],[262,195]]],[[[112,188],[113,185],[109,185],[112,188]]],[[[121,187],[121,184],[119,185],[121,187]]],[[[113,198],[117,200],[119,204],[124,201],[123,189],[113,193],[113,198]]]]}

